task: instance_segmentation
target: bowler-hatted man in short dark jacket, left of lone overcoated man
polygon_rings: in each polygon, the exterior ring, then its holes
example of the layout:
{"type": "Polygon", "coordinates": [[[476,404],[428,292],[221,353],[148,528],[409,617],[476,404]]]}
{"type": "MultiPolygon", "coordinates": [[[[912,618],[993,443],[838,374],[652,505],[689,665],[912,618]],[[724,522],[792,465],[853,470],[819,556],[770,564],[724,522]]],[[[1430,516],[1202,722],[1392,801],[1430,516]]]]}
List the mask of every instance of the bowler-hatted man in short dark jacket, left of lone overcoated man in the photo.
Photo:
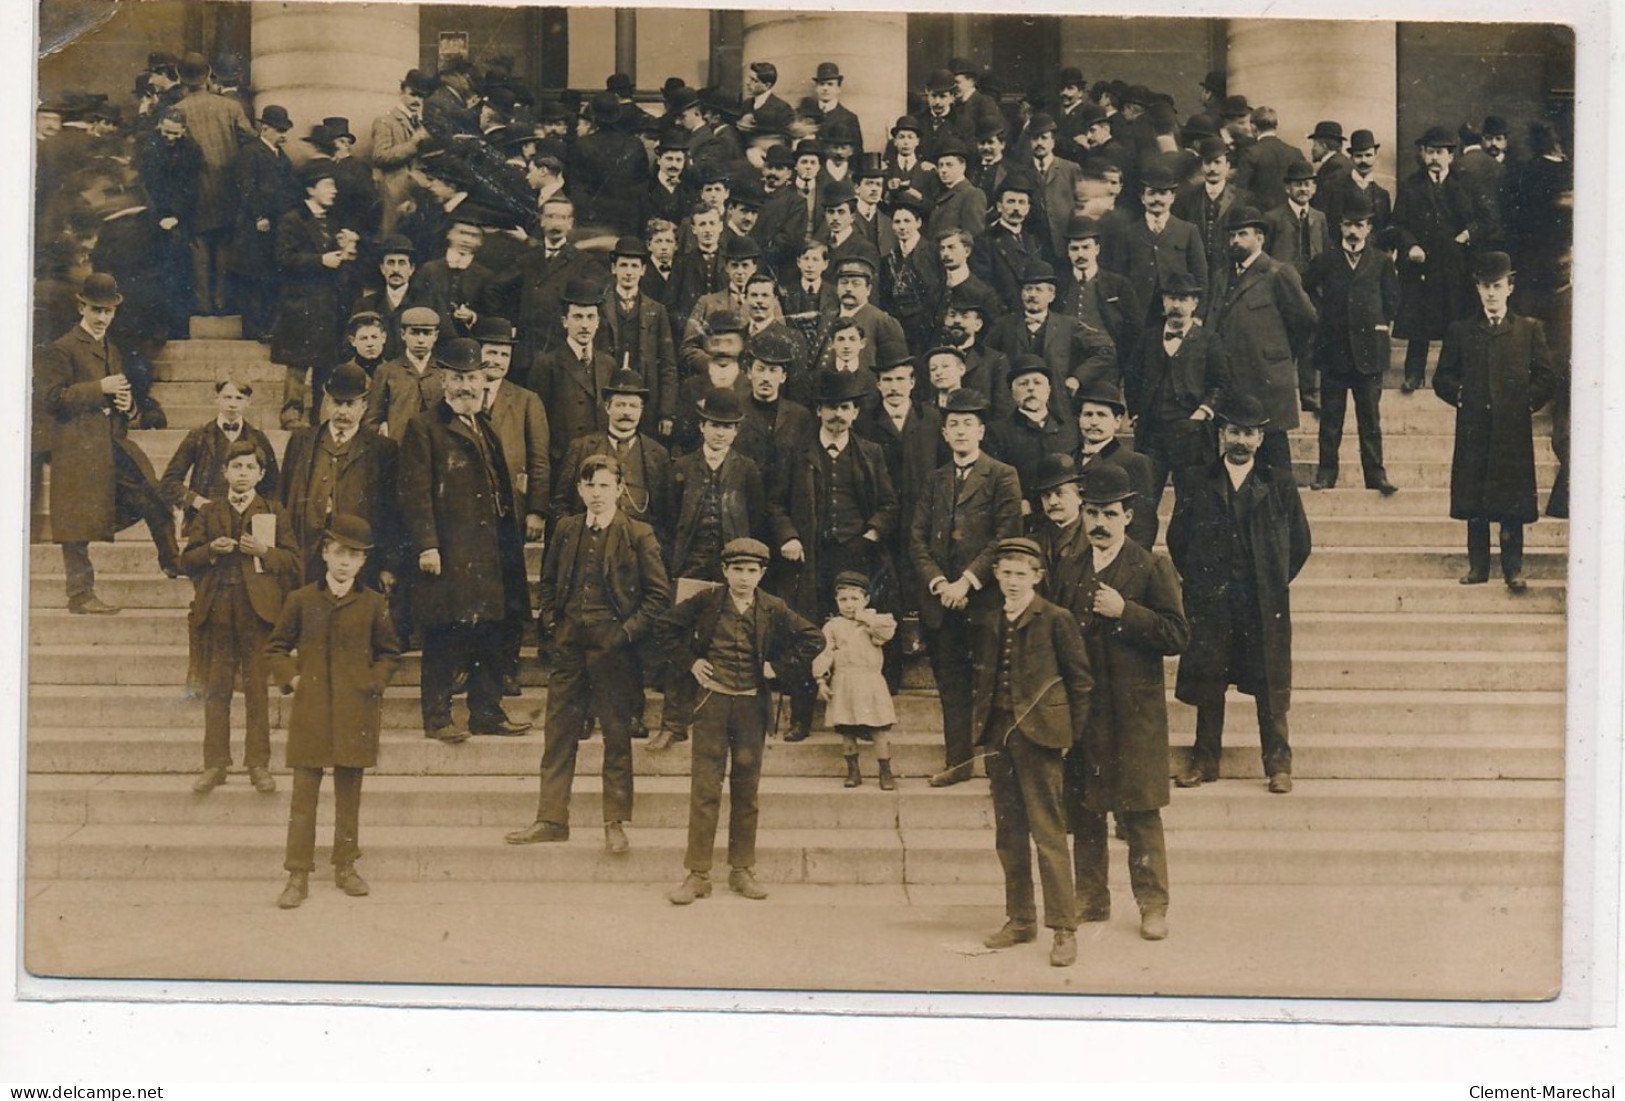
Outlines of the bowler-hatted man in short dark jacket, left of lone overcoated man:
{"type": "Polygon", "coordinates": [[[1360,429],[1360,469],[1365,487],[1384,497],[1398,492],[1383,466],[1383,372],[1389,362],[1389,330],[1399,310],[1399,281],[1388,253],[1372,240],[1372,206],[1363,195],[1337,205],[1337,245],[1316,257],[1303,291],[1320,318],[1310,346],[1320,375],[1320,466],[1313,489],[1337,484],[1337,451],[1344,414],[1354,395],[1360,429]]]}

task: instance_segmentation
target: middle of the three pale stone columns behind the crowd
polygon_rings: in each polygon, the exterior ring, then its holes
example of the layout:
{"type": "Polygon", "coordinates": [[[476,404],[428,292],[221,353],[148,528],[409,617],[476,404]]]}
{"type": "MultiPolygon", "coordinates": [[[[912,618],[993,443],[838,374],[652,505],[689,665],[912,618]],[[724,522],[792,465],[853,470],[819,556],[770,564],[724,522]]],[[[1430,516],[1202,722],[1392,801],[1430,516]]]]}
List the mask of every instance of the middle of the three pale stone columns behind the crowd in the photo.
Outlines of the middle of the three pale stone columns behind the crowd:
{"type": "Polygon", "coordinates": [[[863,123],[863,148],[881,149],[908,102],[908,16],[900,11],[746,11],[744,63],[778,67],[780,99],[812,94],[819,62],[835,62],[840,102],[863,123]]]}

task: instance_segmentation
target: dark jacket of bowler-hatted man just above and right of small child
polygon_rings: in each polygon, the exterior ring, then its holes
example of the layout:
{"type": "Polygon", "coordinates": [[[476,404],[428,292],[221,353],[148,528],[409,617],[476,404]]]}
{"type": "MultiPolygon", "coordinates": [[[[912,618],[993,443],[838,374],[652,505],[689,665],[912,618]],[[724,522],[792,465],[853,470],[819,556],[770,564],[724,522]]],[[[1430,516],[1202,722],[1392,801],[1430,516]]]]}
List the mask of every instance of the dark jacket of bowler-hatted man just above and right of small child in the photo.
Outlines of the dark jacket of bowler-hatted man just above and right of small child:
{"type": "Polygon", "coordinates": [[[1014,466],[978,455],[964,486],[952,461],[931,471],[908,529],[908,557],[920,581],[920,622],[926,627],[942,622],[942,601],[931,594],[936,578],[952,583],[970,573],[982,586],[978,594],[991,593],[993,549],[999,539],[1019,534],[1020,479],[1014,466]]]}

